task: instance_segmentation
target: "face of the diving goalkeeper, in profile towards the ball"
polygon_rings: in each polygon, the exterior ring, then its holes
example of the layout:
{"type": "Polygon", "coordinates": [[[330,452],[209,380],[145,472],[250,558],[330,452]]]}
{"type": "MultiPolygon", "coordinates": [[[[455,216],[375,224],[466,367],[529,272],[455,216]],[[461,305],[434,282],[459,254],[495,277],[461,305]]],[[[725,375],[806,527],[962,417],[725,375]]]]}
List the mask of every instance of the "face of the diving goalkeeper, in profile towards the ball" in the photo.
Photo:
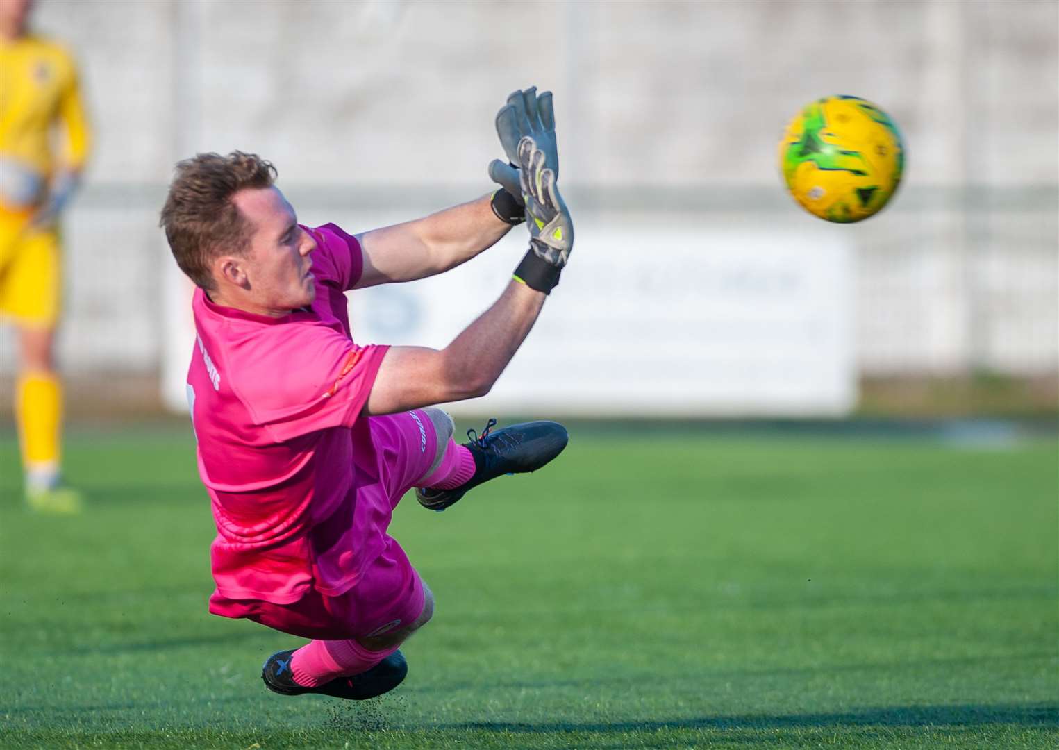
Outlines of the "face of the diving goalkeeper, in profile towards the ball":
{"type": "Polygon", "coordinates": [[[317,288],[309,267],[316,240],[276,188],[248,189],[233,202],[250,226],[250,250],[243,264],[245,301],[266,315],[281,316],[312,304],[317,288]]]}

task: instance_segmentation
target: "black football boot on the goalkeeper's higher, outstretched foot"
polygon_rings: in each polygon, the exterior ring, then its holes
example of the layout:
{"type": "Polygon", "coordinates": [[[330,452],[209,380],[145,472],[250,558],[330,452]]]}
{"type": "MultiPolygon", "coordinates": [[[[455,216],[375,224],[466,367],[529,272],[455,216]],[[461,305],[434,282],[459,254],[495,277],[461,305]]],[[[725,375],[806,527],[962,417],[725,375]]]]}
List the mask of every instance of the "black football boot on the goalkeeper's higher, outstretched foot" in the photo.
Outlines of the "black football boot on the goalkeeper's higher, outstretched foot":
{"type": "Polygon", "coordinates": [[[467,430],[469,443],[464,447],[474,457],[474,474],[453,489],[417,487],[415,499],[431,511],[444,511],[462,498],[468,489],[505,474],[536,471],[567,447],[567,428],[557,422],[524,422],[493,430],[496,419],[489,419],[482,434],[467,430]]]}

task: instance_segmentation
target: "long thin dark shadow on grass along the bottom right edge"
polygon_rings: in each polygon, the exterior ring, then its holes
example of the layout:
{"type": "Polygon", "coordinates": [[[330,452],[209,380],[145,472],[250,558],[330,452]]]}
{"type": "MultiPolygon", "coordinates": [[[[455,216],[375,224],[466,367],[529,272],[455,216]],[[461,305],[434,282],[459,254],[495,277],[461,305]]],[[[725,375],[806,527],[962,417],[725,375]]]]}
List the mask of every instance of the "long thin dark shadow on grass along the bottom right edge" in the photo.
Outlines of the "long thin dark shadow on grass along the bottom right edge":
{"type": "Polygon", "coordinates": [[[530,724],[519,721],[469,721],[441,729],[479,730],[543,734],[555,732],[652,732],[680,729],[822,729],[847,727],[980,727],[1019,725],[1051,727],[1059,730],[1059,706],[1053,704],[964,704],[894,706],[862,711],[820,714],[782,714],[770,716],[703,716],[671,720],[613,721],[577,724],[530,724]]]}

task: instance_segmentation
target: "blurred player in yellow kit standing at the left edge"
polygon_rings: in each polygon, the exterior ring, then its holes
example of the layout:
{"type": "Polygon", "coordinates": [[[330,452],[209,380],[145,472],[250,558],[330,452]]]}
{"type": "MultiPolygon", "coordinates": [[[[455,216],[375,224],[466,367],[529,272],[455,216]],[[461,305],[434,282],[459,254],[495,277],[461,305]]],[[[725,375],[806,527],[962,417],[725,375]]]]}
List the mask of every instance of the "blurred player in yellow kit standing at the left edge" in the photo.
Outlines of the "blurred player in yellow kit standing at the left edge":
{"type": "Polygon", "coordinates": [[[73,60],[28,32],[32,0],[0,0],[0,316],[18,329],[15,410],[30,507],[76,513],[62,485],[62,386],[54,339],[61,297],[58,216],[88,156],[73,60]]]}

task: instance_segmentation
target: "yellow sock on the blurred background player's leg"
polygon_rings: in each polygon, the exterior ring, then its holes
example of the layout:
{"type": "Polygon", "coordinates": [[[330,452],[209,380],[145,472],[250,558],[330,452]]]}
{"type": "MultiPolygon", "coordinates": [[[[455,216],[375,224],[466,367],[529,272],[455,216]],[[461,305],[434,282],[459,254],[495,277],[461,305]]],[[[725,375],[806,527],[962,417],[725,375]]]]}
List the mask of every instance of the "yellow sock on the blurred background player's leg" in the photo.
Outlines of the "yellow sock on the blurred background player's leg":
{"type": "Polygon", "coordinates": [[[31,372],[18,378],[16,416],[26,475],[57,476],[59,430],[62,423],[62,385],[53,373],[31,372]]]}

